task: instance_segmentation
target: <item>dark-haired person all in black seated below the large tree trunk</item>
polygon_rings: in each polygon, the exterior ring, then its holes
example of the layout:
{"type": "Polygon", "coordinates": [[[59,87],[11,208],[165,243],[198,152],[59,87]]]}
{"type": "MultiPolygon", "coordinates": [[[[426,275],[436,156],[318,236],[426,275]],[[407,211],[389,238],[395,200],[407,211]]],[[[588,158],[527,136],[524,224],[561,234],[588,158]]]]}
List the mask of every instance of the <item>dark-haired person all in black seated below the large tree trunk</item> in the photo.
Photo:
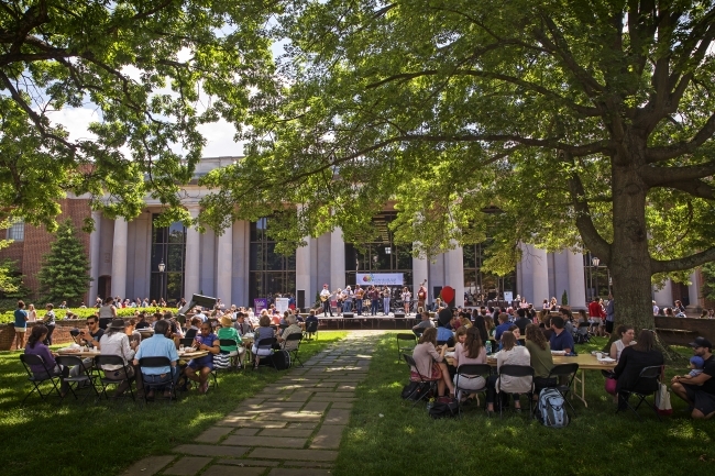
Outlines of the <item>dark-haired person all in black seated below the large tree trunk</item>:
{"type": "Polygon", "coordinates": [[[616,368],[613,369],[613,375],[617,380],[616,395],[618,396],[618,408],[622,410],[627,408],[626,402],[628,401],[628,395],[624,394],[623,390],[644,394],[652,394],[658,390],[658,381],[656,380],[637,384],[638,376],[644,368],[663,365],[663,354],[653,348],[653,333],[644,329],[638,335],[638,343],[627,346],[620,353],[620,359],[616,368]]]}

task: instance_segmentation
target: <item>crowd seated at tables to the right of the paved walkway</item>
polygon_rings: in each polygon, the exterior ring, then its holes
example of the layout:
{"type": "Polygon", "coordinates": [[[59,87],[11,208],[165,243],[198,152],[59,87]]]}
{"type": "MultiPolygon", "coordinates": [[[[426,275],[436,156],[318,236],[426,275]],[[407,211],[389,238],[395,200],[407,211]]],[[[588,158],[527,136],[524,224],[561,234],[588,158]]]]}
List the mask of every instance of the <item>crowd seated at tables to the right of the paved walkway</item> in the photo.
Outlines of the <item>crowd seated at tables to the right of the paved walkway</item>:
{"type": "MultiPolygon", "coordinates": [[[[597,300],[594,302],[598,303],[597,300]]],[[[613,298],[609,302],[613,302],[613,298]]],[[[604,313],[607,316],[606,310],[604,313]]],[[[521,395],[529,394],[536,400],[541,389],[557,385],[557,379],[550,377],[554,366],[553,352],[564,355],[574,353],[574,334],[580,329],[578,324],[586,323],[591,328],[595,323],[595,328],[601,326],[601,322],[592,319],[585,311],[574,318],[568,309],[560,309],[560,313],[553,316],[550,310],[537,313],[527,308],[481,308],[471,313],[443,309],[432,322],[429,312],[424,312],[420,322],[413,328],[419,340],[413,352],[416,366],[410,368],[411,379],[433,380],[438,385],[439,396],[465,400],[470,396],[455,392],[457,369],[465,364],[486,364],[491,351],[498,350],[496,374],[486,379],[466,376],[465,384],[464,376],[460,376],[463,379],[460,390],[486,390],[488,413],[494,412],[495,405],[509,405],[510,399],[514,400],[515,410],[519,411],[521,395]],[[448,352],[454,353],[453,365],[446,358],[448,352]],[[499,378],[498,370],[503,365],[530,366],[534,378],[506,375],[499,378]]],[[[607,356],[617,362],[613,372],[604,373],[607,377],[606,391],[614,396],[618,409],[625,409],[630,392],[652,394],[658,390],[658,380],[639,379],[639,376],[646,367],[662,366],[663,355],[656,348],[654,333],[650,330],[641,330],[637,339],[630,325],[619,325],[615,330],[606,328],[604,331],[615,332],[616,339],[607,356]]],[[[673,377],[671,388],[688,401],[693,418],[708,419],[715,416],[715,357],[712,344],[705,337],[697,337],[690,346],[694,352],[690,362],[691,372],[673,377]]]]}

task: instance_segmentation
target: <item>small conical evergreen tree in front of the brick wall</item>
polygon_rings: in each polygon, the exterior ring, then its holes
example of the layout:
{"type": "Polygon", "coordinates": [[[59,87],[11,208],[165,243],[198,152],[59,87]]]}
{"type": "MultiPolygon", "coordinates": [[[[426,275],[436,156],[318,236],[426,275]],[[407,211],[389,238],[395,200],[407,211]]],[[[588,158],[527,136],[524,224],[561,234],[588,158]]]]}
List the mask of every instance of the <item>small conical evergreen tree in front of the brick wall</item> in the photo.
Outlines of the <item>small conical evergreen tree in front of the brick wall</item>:
{"type": "Polygon", "coordinates": [[[81,301],[89,288],[89,261],[76,233],[69,220],[59,225],[50,254],[44,257],[37,274],[41,291],[51,301],[81,301]]]}

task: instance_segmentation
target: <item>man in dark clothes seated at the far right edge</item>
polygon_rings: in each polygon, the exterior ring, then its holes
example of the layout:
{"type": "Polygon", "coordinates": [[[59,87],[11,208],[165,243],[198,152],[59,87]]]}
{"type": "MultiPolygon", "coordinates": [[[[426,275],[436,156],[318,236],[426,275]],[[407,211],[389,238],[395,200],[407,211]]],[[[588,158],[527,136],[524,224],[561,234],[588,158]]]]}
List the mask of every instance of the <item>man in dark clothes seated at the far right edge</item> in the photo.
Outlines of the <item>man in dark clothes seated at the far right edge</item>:
{"type": "MultiPolygon", "coordinates": [[[[639,339],[640,341],[640,339],[639,339]]],[[[689,344],[695,356],[703,359],[703,372],[694,377],[675,376],[671,388],[692,407],[691,417],[711,419],[715,414],[715,356],[713,344],[705,337],[696,337],[689,344]]],[[[624,352],[625,353],[625,352],[624,352]]]]}

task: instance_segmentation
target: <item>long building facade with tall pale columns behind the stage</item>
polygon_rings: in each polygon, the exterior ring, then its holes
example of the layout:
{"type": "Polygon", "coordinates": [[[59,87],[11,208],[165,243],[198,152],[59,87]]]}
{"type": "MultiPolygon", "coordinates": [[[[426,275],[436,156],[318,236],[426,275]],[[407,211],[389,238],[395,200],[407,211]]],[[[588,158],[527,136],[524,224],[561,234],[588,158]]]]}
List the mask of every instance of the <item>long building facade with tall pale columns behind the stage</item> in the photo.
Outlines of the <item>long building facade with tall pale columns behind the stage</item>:
{"type": "MultiPolygon", "coordinates": [[[[205,158],[196,175],[234,160],[237,157],[205,158]]],[[[184,204],[191,217],[197,217],[199,200],[207,190],[195,181],[185,190],[184,204]]],[[[470,302],[486,303],[504,300],[510,292],[514,298],[521,296],[539,306],[551,297],[561,302],[565,294],[572,309],[582,309],[593,296],[606,297],[612,286],[608,269],[595,256],[570,251],[547,253],[526,244],[521,261],[505,277],[482,270],[485,244],[455,246],[429,261],[415,258],[410,246],[394,243],[388,224],[395,212],[389,209],[374,219],[378,236],[372,243],[345,243],[341,230],[336,229],[306,239],[306,246],[283,256],[275,253],[275,242],[267,233],[271,218],[237,221],[221,234],[212,230],[199,233],[180,223],[156,226],[154,218],[161,203],[151,198],[143,212],[130,221],[110,220],[90,211],[85,198],[67,198],[61,204],[61,219],[72,218],[77,229],[85,218],[91,215],[95,220],[92,233],[79,232],[91,264],[88,303],[98,296],[164,298],[173,302],[202,294],[226,303],[252,306],[255,298],[292,294],[299,307],[307,308],[323,284],[334,290],[354,287],[358,273],[398,273],[413,294],[427,281],[430,302],[444,286],[450,286],[458,305],[462,296],[468,296],[470,302]]],[[[35,275],[42,256],[50,251],[52,235],[43,229],[20,226],[2,232],[15,241],[0,251],[0,258],[16,259],[29,287],[37,289],[35,275]]],[[[691,286],[668,281],[662,289],[653,290],[658,306],[672,306],[674,299],[681,299],[691,308],[703,307],[700,273],[691,278],[691,286]]]]}

